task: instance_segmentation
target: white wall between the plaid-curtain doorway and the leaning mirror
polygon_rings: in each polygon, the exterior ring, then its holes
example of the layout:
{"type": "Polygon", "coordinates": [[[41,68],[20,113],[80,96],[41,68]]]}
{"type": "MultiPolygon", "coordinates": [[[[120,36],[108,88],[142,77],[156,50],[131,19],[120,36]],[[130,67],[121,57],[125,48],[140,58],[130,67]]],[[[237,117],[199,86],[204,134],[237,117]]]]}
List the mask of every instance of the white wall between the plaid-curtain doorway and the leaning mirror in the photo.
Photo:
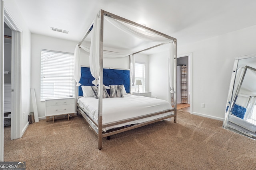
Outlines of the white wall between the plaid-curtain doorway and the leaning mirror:
{"type": "Polygon", "coordinates": [[[255,47],[256,25],[177,46],[178,55],[192,52],[192,114],[224,118],[234,59],[256,53],[255,47]]]}

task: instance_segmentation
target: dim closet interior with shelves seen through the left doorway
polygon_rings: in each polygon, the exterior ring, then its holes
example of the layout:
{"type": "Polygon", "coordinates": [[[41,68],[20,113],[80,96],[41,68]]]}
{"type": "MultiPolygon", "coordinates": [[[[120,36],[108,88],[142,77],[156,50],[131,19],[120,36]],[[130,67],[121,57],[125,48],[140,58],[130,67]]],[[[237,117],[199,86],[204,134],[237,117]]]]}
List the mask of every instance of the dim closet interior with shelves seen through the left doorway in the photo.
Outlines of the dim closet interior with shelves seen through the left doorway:
{"type": "Polygon", "coordinates": [[[4,23],[4,126],[11,125],[12,30],[4,23]]]}

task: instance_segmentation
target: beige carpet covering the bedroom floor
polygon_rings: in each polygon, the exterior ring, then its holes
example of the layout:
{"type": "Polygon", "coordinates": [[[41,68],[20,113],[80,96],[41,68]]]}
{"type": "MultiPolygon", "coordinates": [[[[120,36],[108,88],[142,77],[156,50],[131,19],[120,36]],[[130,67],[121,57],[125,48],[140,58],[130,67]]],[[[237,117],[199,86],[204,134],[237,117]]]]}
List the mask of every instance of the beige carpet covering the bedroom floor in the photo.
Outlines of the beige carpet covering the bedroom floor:
{"type": "Polygon", "coordinates": [[[103,139],[80,117],[29,125],[10,141],[4,161],[26,161],[27,170],[255,170],[256,141],[222,128],[222,121],[178,111],[177,123],[161,121],[103,139]]]}

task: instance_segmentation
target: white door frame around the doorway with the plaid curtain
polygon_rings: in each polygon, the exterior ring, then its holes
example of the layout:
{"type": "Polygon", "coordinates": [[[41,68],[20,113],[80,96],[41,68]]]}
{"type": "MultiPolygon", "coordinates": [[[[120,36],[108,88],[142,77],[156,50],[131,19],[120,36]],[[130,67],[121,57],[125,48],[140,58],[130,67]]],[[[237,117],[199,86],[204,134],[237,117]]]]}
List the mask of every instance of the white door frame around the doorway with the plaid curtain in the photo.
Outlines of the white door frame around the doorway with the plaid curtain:
{"type": "MultiPolygon", "coordinates": [[[[188,84],[189,84],[189,94],[190,94],[190,114],[192,114],[192,53],[178,55],[177,58],[188,57],[188,84]]],[[[177,67],[177,66],[176,66],[177,67]]]]}

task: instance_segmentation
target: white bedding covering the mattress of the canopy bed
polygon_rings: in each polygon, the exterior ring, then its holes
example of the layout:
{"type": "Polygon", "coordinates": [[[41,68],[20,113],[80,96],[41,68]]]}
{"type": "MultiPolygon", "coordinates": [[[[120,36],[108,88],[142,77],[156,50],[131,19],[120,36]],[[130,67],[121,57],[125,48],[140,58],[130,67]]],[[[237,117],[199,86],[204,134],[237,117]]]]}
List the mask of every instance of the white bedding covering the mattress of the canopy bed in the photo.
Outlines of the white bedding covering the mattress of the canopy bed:
{"type": "MultiPolygon", "coordinates": [[[[78,105],[98,123],[98,99],[93,97],[82,97],[79,98],[77,102],[78,105]]],[[[156,98],[134,96],[130,94],[124,95],[124,98],[104,98],[102,102],[102,125],[168,109],[172,109],[172,106],[167,101],[156,98]]],[[[115,127],[142,123],[172,114],[174,114],[173,111],[114,125],[102,130],[107,131],[115,127]]]]}

